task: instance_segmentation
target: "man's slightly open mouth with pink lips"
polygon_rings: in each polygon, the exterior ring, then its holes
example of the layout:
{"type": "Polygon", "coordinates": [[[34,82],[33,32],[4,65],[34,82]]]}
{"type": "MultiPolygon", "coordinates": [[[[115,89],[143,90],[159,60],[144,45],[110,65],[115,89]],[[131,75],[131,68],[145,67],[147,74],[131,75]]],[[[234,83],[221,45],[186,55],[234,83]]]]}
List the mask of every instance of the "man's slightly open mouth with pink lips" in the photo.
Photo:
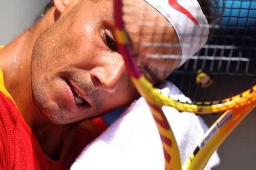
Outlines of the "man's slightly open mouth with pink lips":
{"type": "Polygon", "coordinates": [[[79,113],[91,107],[88,100],[83,97],[81,90],[66,79],[67,104],[72,112],[79,113]]]}

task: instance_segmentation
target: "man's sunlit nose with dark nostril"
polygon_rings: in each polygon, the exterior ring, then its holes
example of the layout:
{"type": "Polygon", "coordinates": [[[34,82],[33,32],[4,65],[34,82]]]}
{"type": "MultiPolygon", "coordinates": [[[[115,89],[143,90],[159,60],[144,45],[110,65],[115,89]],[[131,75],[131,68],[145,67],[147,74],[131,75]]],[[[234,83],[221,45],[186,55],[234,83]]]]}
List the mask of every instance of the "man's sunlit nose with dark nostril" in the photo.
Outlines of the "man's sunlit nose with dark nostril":
{"type": "Polygon", "coordinates": [[[123,79],[124,72],[125,65],[121,59],[94,67],[90,72],[90,76],[96,88],[102,88],[108,93],[114,93],[123,79]]]}

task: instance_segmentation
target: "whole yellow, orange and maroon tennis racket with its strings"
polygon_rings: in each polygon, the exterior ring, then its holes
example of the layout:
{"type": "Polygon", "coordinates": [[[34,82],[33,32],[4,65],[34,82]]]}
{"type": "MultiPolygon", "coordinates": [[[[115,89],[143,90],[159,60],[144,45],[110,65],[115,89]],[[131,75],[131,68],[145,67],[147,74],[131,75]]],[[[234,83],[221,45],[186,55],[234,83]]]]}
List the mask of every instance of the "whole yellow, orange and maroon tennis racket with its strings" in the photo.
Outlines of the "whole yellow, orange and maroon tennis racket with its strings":
{"type": "Polygon", "coordinates": [[[173,170],[203,169],[212,153],[256,104],[256,2],[200,1],[199,13],[204,13],[206,22],[200,22],[200,15],[194,17],[193,5],[184,2],[115,0],[114,4],[115,41],[131,80],[153,113],[165,168],[173,170]],[[162,2],[165,4],[159,4],[162,2]],[[177,15],[168,14],[168,10],[177,15]],[[189,60],[181,65],[184,57],[189,60]],[[190,100],[180,101],[158,92],[155,86],[169,74],[167,80],[190,100]],[[183,166],[162,106],[197,114],[224,112],[183,166]]]}

